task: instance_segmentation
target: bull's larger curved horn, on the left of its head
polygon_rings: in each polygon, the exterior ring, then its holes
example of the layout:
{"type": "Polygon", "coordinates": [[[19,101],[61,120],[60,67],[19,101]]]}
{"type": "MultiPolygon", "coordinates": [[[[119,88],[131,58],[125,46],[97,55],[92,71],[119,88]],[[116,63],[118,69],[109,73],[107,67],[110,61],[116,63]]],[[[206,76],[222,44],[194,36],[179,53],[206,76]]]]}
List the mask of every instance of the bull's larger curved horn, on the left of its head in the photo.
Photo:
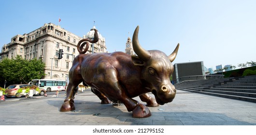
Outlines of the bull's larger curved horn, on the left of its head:
{"type": "Polygon", "coordinates": [[[151,53],[147,50],[144,50],[140,45],[138,40],[139,26],[136,27],[133,36],[132,36],[132,47],[134,52],[141,58],[143,61],[148,61],[151,57],[151,53]]]}

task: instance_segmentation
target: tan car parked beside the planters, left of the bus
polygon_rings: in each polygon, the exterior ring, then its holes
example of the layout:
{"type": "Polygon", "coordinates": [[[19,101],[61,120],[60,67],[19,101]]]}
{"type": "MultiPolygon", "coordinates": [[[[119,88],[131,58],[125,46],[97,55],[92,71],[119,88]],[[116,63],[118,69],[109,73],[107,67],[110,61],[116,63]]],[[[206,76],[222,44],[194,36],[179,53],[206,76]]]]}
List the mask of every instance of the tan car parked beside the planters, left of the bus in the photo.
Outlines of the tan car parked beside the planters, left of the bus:
{"type": "MultiPolygon", "coordinates": [[[[22,95],[21,94],[18,94],[17,91],[19,88],[24,88],[24,87],[29,87],[29,86],[34,86],[34,87],[37,87],[35,85],[32,85],[32,84],[13,84],[13,85],[10,85],[6,88],[5,90],[5,96],[6,97],[11,97],[11,96],[16,96],[16,97],[21,97],[22,95]]],[[[46,93],[46,90],[44,89],[40,89],[40,93],[39,95],[43,95],[46,93]]]]}

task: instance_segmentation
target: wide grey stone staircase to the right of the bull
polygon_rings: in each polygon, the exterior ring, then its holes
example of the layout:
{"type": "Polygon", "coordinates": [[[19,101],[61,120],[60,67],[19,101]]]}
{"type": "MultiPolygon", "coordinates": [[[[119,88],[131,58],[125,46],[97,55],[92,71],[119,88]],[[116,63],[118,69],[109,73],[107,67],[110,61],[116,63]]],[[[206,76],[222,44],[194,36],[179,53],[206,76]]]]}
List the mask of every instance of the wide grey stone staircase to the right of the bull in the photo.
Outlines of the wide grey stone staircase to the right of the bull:
{"type": "Polygon", "coordinates": [[[256,76],[183,81],[174,86],[177,90],[256,103],[256,76]]]}

